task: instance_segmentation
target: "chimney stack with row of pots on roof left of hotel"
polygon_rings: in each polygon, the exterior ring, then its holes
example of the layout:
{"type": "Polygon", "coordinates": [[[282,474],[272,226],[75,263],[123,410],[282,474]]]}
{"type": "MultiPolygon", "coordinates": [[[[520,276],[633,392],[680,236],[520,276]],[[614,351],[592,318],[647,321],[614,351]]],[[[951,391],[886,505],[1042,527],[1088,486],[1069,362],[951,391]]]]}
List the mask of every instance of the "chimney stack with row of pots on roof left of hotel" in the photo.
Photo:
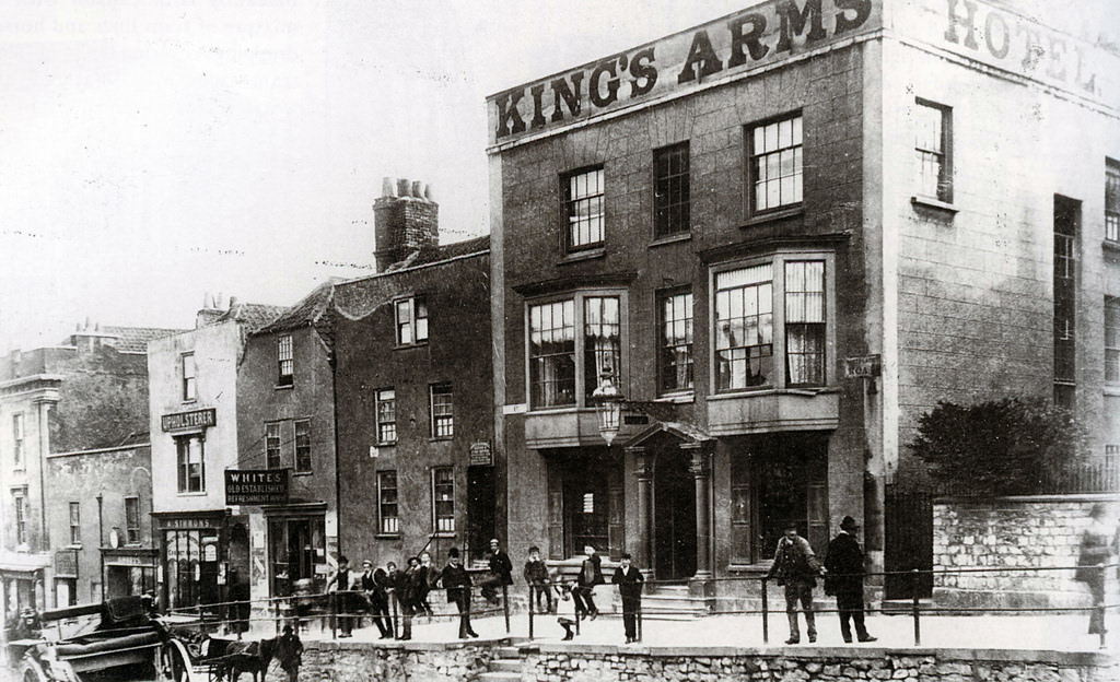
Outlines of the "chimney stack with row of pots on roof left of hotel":
{"type": "Polygon", "coordinates": [[[377,272],[403,261],[414,251],[439,245],[439,204],[431,187],[419,180],[384,178],[373,203],[377,272]]]}

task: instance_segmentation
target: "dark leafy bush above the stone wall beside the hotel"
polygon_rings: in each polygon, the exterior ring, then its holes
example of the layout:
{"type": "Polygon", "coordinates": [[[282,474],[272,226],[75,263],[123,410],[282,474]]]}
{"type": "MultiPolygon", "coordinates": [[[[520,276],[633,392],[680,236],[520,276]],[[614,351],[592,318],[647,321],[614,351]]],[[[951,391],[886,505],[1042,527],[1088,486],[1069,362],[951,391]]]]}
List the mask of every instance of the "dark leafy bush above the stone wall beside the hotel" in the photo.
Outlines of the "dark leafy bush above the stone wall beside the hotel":
{"type": "Polygon", "coordinates": [[[1083,459],[1085,433],[1048,402],[939,402],[918,420],[911,447],[943,493],[1029,495],[1053,492],[1083,459]]]}

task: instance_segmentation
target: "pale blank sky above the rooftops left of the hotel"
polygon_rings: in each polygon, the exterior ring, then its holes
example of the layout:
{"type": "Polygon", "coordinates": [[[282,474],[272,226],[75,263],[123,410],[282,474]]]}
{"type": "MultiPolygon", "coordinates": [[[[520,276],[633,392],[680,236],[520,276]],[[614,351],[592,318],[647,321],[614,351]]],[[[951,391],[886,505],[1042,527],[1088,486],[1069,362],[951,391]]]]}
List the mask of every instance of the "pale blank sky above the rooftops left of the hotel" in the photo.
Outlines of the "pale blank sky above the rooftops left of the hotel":
{"type": "Polygon", "coordinates": [[[486,95],[754,1],[0,0],[0,354],[370,273],[383,176],[485,234],[486,95]]]}

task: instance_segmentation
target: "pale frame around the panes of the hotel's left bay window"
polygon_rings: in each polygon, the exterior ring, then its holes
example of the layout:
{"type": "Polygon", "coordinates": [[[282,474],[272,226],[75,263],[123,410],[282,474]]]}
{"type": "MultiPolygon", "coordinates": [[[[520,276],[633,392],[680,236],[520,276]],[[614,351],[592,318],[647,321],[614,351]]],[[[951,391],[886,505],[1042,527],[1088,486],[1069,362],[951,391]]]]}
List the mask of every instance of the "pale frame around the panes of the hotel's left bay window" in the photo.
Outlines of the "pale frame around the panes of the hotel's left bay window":
{"type": "Polygon", "coordinates": [[[627,391],[627,370],[629,367],[629,297],[626,289],[578,289],[576,291],[568,291],[562,295],[547,296],[540,298],[533,298],[525,301],[524,308],[524,357],[525,357],[525,403],[529,405],[530,411],[556,411],[556,410],[580,410],[591,408],[587,401],[588,394],[595,391],[596,386],[590,390],[587,389],[586,381],[586,329],[587,325],[585,321],[586,305],[585,300],[588,298],[603,298],[603,297],[615,297],[618,299],[618,337],[620,347],[622,362],[620,367],[614,367],[614,384],[624,394],[627,391]],[[531,311],[534,306],[542,306],[548,303],[554,303],[559,301],[572,301],[572,309],[575,315],[575,334],[576,334],[576,401],[575,403],[562,404],[562,405],[536,405],[533,404],[533,385],[532,385],[532,356],[531,356],[531,311]]]}

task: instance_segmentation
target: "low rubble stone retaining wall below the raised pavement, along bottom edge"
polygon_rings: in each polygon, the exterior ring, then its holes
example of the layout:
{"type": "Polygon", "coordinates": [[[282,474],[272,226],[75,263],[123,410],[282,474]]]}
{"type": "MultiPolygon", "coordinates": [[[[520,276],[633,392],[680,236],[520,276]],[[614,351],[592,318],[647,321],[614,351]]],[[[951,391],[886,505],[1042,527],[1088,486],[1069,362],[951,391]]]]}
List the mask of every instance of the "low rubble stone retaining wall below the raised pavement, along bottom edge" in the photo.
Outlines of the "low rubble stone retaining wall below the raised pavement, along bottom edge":
{"type": "MultiPolygon", "coordinates": [[[[450,682],[480,680],[493,652],[486,645],[435,648],[372,644],[310,643],[304,653],[301,682],[450,682]]],[[[607,651],[609,648],[609,651],[607,651]]],[[[604,651],[598,651],[604,650],[604,651]]],[[[711,653],[710,651],[708,652],[711,653]]],[[[896,655],[884,651],[802,651],[794,654],[737,652],[735,655],[529,650],[522,657],[524,682],[1110,682],[1120,679],[1114,658],[1093,653],[977,652],[896,655]]],[[[287,682],[273,663],[265,682],[287,682]]]]}

